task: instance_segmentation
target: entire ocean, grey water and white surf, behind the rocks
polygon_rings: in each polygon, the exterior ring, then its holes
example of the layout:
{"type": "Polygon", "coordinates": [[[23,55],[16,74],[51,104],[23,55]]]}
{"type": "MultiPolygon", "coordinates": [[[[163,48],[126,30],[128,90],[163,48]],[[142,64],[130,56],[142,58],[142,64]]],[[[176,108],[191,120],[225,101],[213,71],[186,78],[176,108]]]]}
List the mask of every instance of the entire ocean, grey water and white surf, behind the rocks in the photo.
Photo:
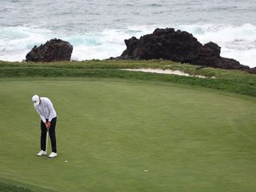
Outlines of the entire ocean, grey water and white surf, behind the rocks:
{"type": "Polygon", "coordinates": [[[70,42],[73,60],[116,57],[124,39],[174,27],[254,67],[255,18],[255,0],[1,0],[0,60],[22,61],[50,38],[70,42]]]}

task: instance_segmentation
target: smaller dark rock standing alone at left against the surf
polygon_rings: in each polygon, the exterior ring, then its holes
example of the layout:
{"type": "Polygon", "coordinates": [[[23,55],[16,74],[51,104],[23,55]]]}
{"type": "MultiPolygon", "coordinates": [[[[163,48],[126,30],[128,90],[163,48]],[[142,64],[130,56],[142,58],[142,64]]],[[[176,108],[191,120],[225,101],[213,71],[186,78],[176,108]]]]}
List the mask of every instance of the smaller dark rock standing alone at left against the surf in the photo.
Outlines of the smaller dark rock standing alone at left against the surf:
{"type": "Polygon", "coordinates": [[[58,62],[70,61],[73,46],[61,39],[51,39],[46,44],[34,46],[26,54],[26,62],[58,62]]]}

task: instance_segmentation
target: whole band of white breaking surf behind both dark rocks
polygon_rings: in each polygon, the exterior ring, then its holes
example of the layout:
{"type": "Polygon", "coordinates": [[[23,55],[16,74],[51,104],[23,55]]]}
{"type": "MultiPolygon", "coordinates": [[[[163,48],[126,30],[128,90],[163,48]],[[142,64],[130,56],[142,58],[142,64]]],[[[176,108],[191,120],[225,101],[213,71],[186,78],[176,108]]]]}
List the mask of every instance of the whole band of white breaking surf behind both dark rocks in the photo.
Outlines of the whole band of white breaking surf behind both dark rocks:
{"type": "Polygon", "coordinates": [[[256,26],[227,25],[170,25],[129,26],[124,29],[106,29],[83,34],[56,34],[36,26],[2,26],[0,28],[0,60],[22,61],[33,46],[39,46],[51,38],[62,38],[74,46],[73,60],[104,59],[117,57],[126,49],[124,39],[153,33],[155,28],[174,27],[186,30],[202,44],[216,42],[222,47],[222,57],[234,58],[243,65],[254,67],[256,55],[256,26]]]}

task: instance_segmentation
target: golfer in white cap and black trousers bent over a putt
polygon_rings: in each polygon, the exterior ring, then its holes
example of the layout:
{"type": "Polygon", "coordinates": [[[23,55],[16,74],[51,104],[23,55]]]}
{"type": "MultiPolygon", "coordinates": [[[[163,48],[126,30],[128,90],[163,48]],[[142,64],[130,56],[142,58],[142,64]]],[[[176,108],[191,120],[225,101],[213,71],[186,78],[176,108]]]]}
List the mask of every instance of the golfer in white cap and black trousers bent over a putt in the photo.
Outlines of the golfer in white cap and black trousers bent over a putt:
{"type": "Polygon", "coordinates": [[[32,102],[34,103],[34,109],[38,112],[41,118],[41,150],[37,155],[46,155],[46,132],[49,131],[52,150],[52,152],[49,155],[49,158],[55,158],[57,157],[55,135],[57,114],[54,110],[53,103],[50,102],[49,98],[42,98],[36,94],[32,97],[32,102]]]}

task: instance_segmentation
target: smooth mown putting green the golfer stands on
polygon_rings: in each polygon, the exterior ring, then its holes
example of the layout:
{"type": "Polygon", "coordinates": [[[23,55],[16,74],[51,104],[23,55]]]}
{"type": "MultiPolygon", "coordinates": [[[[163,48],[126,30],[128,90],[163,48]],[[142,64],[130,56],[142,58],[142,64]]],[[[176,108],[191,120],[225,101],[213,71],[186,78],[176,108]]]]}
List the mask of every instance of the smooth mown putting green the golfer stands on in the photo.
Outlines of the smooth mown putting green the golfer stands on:
{"type": "Polygon", "coordinates": [[[15,78],[0,88],[0,183],[27,191],[256,189],[256,98],[90,78],[15,78]],[[33,94],[54,103],[58,158],[36,156],[33,94]]]}

